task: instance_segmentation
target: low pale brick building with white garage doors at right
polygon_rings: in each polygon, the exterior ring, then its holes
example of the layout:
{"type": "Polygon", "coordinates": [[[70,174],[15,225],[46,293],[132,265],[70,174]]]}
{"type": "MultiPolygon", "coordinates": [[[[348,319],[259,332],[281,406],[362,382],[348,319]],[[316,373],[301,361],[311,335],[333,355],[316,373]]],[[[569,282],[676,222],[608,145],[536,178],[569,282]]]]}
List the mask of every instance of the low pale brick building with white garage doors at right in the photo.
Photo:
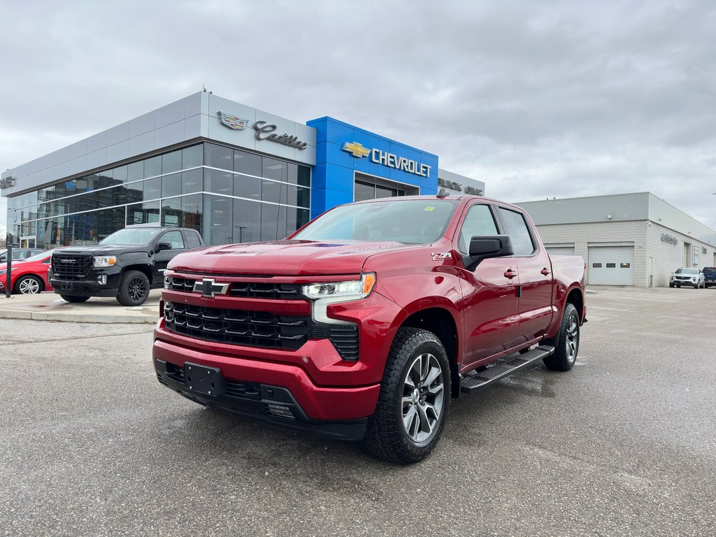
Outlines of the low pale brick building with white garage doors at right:
{"type": "Polygon", "coordinates": [[[550,253],[584,258],[588,284],[662,287],[679,267],[716,266],[716,231],[649,192],[516,205],[550,253]]]}

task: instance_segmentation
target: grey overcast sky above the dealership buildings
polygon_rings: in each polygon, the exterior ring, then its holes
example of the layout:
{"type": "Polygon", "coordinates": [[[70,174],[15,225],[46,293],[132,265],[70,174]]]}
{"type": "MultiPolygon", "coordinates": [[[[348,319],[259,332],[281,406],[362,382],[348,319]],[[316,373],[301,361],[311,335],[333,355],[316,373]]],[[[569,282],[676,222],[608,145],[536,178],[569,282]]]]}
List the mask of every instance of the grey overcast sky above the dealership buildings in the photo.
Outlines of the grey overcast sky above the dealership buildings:
{"type": "Polygon", "coordinates": [[[436,153],[490,197],[650,190],[716,228],[710,0],[0,0],[0,20],[2,170],[205,84],[436,153]]]}

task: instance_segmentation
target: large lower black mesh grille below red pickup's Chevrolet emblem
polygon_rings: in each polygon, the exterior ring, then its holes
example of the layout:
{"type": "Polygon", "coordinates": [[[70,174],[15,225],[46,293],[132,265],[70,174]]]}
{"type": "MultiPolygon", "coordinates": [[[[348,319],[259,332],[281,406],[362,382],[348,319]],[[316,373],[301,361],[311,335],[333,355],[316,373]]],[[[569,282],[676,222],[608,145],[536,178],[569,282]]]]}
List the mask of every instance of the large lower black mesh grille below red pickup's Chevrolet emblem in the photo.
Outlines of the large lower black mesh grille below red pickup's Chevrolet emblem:
{"type": "Polygon", "coordinates": [[[329,339],[343,359],[358,359],[358,328],[352,324],[316,324],[311,317],[170,302],[164,303],[164,317],[170,332],[195,339],[286,350],[300,349],[309,339],[329,339]]]}

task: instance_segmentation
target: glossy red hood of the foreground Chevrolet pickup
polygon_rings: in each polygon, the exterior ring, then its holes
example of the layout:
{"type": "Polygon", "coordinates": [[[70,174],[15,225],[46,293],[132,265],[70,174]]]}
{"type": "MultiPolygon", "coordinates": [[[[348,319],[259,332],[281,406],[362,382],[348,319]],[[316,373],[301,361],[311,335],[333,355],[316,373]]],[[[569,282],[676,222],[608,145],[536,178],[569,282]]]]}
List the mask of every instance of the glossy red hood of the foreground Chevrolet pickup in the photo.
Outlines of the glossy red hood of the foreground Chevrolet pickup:
{"type": "Polygon", "coordinates": [[[361,241],[230,244],[182,253],[169,263],[169,269],[205,274],[357,274],[362,271],[366,259],[373,254],[408,248],[415,246],[396,242],[361,241]]]}

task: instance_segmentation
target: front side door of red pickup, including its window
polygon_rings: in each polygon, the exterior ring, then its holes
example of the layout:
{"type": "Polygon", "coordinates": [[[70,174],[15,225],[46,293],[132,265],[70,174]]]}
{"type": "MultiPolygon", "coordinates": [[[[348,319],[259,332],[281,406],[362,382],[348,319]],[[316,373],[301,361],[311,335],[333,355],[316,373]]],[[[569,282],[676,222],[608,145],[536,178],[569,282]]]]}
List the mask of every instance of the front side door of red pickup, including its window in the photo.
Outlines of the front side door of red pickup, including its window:
{"type": "MultiPolygon", "coordinates": [[[[498,235],[493,205],[477,202],[468,207],[453,242],[461,256],[468,255],[470,238],[475,235],[498,235]]],[[[464,368],[515,343],[519,280],[516,263],[510,257],[483,259],[474,271],[458,264],[463,291],[464,368]]]]}

